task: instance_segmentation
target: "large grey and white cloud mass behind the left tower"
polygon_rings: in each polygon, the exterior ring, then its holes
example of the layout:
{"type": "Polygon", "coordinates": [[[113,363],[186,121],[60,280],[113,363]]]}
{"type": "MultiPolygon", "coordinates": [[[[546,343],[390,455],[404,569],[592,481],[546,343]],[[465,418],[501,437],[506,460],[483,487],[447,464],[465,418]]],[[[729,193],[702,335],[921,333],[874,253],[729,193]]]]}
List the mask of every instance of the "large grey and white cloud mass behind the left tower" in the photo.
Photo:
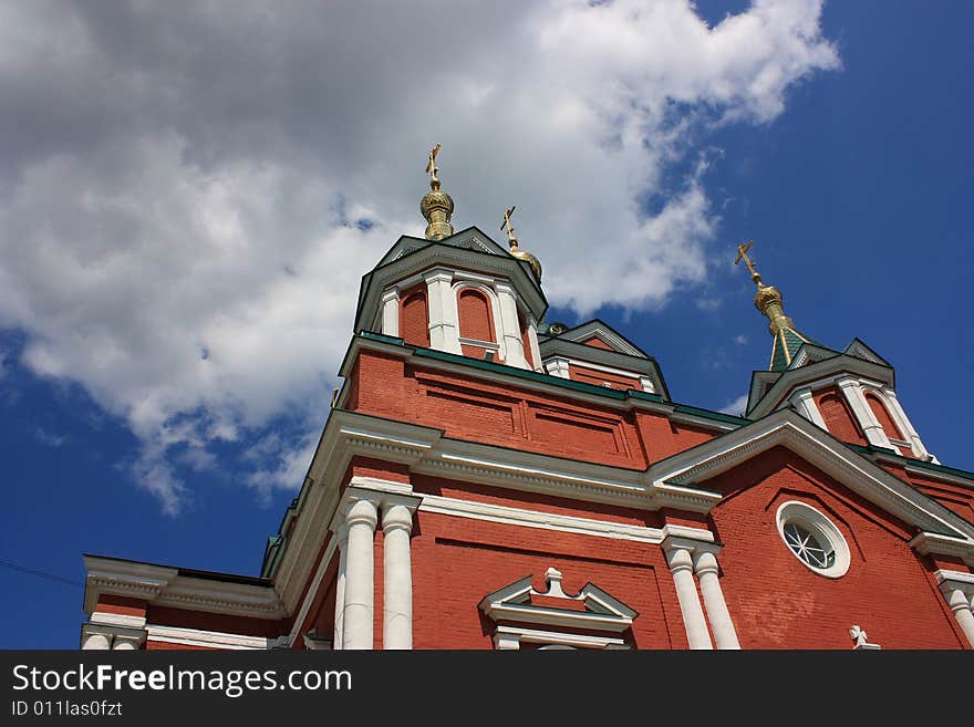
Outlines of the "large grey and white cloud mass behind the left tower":
{"type": "Polygon", "coordinates": [[[493,231],[517,204],[552,303],[662,305],[705,279],[719,224],[700,138],[773,122],[789,87],[838,67],[820,12],[4,3],[0,326],[25,332],[28,367],[128,423],[129,469],[168,511],[180,466],[282,414],[308,437],[248,481],[297,487],[359,280],[422,235],[434,142],[457,229],[493,231]]]}

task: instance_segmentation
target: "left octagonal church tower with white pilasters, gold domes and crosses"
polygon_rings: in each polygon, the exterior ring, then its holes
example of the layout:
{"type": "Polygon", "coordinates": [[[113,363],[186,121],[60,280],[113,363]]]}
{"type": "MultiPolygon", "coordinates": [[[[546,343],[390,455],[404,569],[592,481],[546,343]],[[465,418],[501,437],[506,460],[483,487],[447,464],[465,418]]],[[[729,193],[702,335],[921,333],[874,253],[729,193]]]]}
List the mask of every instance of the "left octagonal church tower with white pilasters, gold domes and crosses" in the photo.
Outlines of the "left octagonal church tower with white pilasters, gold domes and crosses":
{"type": "Polygon", "coordinates": [[[509,249],[476,227],[456,232],[442,188],[437,144],[427,156],[429,191],[419,202],[424,239],[402,237],[362,280],[358,331],[435,351],[543,371],[538,323],[548,303],[541,264],[520,250],[505,214],[509,249]]]}

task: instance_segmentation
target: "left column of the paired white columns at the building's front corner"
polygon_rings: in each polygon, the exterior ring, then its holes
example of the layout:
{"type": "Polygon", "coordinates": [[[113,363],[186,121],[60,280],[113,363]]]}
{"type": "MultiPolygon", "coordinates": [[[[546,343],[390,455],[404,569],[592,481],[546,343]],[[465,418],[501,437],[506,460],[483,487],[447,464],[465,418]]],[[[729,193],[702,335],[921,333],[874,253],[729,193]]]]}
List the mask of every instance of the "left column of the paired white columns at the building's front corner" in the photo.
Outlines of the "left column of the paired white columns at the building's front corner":
{"type": "Polygon", "coordinates": [[[348,562],[342,648],[372,648],[374,607],[373,540],[379,517],[375,505],[359,500],[349,510],[348,562]]]}

